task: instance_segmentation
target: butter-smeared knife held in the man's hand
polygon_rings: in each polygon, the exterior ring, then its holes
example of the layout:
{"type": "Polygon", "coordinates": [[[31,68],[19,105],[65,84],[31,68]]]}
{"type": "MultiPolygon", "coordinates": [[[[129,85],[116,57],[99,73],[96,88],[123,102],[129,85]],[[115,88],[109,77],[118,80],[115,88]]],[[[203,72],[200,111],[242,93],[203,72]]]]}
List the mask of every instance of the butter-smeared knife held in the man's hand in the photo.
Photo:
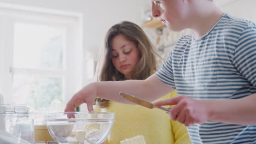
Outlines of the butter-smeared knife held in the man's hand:
{"type": "Polygon", "coordinates": [[[165,107],[162,107],[162,106],[159,106],[159,107],[154,106],[152,103],[149,103],[148,101],[143,100],[143,99],[136,98],[134,95],[130,95],[130,94],[123,93],[123,92],[119,92],[119,94],[121,95],[121,97],[125,98],[126,100],[131,101],[132,103],[142,105],[144,107],[148,107],[149,109],[153,109],[155,107],[155,108],[163,110],[167,113],[170,113],[169,109],[166,109],[165,107]]]}

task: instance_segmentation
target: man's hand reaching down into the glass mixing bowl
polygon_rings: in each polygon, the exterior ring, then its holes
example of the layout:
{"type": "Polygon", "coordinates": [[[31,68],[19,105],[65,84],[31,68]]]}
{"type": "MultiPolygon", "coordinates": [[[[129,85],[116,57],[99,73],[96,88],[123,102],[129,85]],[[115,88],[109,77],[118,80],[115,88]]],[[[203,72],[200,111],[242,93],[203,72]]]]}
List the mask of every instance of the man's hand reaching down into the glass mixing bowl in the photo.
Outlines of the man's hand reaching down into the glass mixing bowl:
{"type": "Polygon", "coordinates": [[[77,92],[71,100],[66,105],[65,112],[74,111],[75,107],[80,104],[86,103],[88,111],[94,111],[92,105],[97,96],[97,82],[90,83],[88,86],[85,86],[79,92],[77,92]]]}

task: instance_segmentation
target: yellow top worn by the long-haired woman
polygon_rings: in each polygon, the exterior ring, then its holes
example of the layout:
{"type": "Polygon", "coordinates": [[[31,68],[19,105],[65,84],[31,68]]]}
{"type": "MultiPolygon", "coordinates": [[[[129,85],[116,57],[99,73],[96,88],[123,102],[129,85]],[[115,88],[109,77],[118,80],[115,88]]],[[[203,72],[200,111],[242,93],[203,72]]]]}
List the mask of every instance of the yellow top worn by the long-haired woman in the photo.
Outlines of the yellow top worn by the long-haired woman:
{"type": "MultiPolygon", "coordinates": [[[[158,100],[176,97],[176,95],[176,92],[172,92],[158,100]]],[[[120,141],[137,135],[143,135],[147,144],[191,143],[185,125],[171,121],[170,116],[159,109],[109,101],[109,106],[101,111],[115,113],[115,122],[106,140],[108,144],[120,144],[120,141]]]]}

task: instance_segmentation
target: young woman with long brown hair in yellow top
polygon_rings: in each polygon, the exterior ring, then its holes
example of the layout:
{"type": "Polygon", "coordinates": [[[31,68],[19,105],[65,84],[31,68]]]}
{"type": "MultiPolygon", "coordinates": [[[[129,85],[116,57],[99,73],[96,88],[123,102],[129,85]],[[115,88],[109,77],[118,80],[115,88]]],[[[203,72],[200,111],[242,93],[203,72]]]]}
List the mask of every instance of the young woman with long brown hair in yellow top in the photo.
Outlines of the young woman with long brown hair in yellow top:
{"type": "MultiPolygon", "coordinates": [[[[135,23],[124,21],[112,26],[104,42],[97,67],[99,81],[145,80],[155,73],[154,49],[135,23]]],[[[159,100],[175,95],[173,92],[159,100]]],[[[190,143],[185,126],[171,121],[166,112],[101,98],[96,99],[96,105],[100,111],[115,113],[107,143],[120,143],[137,135],[143,135],[146,143],[190,143]]]]}

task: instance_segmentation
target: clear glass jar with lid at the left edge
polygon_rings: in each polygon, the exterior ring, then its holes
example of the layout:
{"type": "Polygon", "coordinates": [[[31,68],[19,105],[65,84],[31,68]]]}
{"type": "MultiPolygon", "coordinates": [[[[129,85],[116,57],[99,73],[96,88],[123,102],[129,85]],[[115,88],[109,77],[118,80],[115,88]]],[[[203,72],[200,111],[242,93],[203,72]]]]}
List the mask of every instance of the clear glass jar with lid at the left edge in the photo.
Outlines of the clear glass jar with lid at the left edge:
{"type": "Polygon", "coordinates": [[[0,104],[0,143],[34,142],[33,119],[27,105],[0,104]]]}

